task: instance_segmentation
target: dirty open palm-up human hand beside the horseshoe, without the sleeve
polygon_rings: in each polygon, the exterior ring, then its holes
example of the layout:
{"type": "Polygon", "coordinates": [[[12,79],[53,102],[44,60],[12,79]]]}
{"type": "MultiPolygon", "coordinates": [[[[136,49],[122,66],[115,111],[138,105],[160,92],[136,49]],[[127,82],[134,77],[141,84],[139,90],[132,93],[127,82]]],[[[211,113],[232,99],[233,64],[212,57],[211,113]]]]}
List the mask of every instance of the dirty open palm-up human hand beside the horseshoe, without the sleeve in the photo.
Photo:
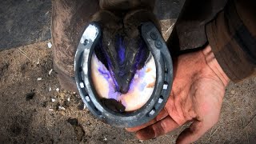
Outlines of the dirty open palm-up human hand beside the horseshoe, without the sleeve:
{"type": "Polygon", "coordinates": [[[126,130],[146,140],[193,122],[178,136],[177,143],[194,142],[218,122],[229,82],[210,46],[183,54],[174,62],[174,83],[165,108],[150,122],[126,130]]]}

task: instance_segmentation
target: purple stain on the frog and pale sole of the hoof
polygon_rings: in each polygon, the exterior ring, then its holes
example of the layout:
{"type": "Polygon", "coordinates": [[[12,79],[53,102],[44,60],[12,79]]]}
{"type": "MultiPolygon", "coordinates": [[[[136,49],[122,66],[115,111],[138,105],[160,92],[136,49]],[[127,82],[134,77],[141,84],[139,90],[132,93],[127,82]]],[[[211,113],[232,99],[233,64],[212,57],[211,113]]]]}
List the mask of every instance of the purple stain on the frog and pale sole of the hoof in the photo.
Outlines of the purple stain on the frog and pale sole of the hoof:
{"type": "MultiPolygon", "coordinates": [[[[102,54],[102,62],[104,63],[104,65],[106,67],[104,67],[104,69],[102,67],[98,68],[99,73],[102,74],[102,76],[108,81],[110,82],[111,80],[111,86],[114,85],[113,87],[111,87],[111,89],[113,89],[113,91],[119,90],[119,86],[118,86],[118,82],[116,80],[116,77],[118,78],[123,78],[125,77],[125,74],[127,74],[127,70],[123,67],[125,66],[125,63],[127,60],[129,61],[129,56],[126,55],[126,43],[125,43],[125,39],[121,36],[121,35],[117,35],[116,36],[116,41],[115,41],[115,52],[116,52],[116,61],[118,62],[118,66],[119,68],[117,69],[117,71],[114,71],[114,64],[110,61],[110,56],[111,54],[107,54],[107,49],[108,47],[103,46],[102,45],[102,41],[100,41],[98,43],[97,46],[97,50],[100,51],[99,55],[102,54]],[[107,69],[106,69],[107,68],[107,69]],[[118,74],[118,75],[116,75],[118,74]]],[[[143,42],[143,40],[139,40],[138,41],[138,51],[136,52],[135,55],[135,62],[133,62],[132,67],[130,71],[132,71],[132,73],[136,72],[138,73],[139,71],[139,78],[144,78],[143,73],[146,73],[146,70],[142,70],[143,66],[145,63],[143,63],[146,59],[146,56],[148,54],[148,50],[146,50],[146,43],[143,42]],[[142,72],[143,71],[143,72],[142,72]]],[[[135,50],[136,51],[136,50],[135,50]]],[[[129,90],[134,90],[133,88],[134,85],[134,78],[132,78],[131,82],[130,82],[130,88],[129,90]]],[[[110,85],[109,85],[110,86],[110,85]]],[[[112,94],[114,94],[114,92],[111,92],[112,94]]],[[[109,95],[109,97],[112,98],[112,96],[109,95]]],[[[113,96],[115,97],[115,96],[113,96]]]]}

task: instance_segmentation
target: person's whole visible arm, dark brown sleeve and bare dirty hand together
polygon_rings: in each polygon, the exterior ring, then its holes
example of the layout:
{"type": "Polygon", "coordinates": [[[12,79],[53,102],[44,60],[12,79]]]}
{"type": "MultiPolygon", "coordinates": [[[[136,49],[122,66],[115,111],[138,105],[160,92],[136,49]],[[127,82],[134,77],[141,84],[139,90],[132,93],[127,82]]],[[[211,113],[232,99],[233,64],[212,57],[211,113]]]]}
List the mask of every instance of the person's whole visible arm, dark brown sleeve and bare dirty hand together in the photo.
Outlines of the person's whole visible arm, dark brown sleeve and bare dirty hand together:
{"type": "Polygon", "coordinates": [[[200,50],[201,54],[198,51],[179,56],[174,62],[173,90],[165,109],[146,125],[127,130],[137,131],[138,138],[148,139],[192,121],[177,141],[189,143],[214,126],[229,79],[240,82],[255,75],[254,3],[232,1],[209,22],[206,34],[211,50],[207,46],[200,50]]]}

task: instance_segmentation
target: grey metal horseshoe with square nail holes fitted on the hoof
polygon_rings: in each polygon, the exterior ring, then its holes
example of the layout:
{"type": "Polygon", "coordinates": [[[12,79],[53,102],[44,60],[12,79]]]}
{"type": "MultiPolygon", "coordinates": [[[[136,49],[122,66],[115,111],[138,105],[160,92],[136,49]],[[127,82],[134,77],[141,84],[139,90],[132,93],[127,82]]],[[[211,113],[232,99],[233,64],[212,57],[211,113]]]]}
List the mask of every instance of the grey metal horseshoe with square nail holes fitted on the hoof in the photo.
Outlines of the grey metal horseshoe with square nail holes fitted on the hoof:
{"type": "Polygon", "coordinates": [[[111,126],[134,127],[149,122],[166,105],[173,82],[173,62],[162,35],[152,22],[142,23],[142,38],[153,54],[157,68],[154,91],[149,101],[139,110],[118,113],[102,105],[90,77],[90,60],[101,32],[101,27],[91,22],[83,32],[75,54],[75,81],[82,101],[96,118],[111,126]]]}

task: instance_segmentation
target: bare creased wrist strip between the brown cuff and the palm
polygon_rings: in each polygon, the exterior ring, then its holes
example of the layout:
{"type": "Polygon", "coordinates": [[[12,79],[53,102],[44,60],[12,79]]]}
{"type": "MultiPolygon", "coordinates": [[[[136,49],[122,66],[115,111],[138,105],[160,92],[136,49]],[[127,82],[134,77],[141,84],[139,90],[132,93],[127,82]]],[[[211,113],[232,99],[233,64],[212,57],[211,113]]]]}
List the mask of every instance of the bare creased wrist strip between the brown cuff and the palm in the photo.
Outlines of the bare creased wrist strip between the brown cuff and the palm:
{"type": "Polygon", "coordinates": [[[210,67],[210,69],[214,71],[214,73],[222,81],[224,86],[227,86],[230,82],[230,78],[228,78],[228,76],[222,70],[222,67],[218,64],[218,61],[215,58],[214,53],[212,52],[211,47],[209,45],[202,50],[202,54],[204,55],[206,63],[210,67]]]}

